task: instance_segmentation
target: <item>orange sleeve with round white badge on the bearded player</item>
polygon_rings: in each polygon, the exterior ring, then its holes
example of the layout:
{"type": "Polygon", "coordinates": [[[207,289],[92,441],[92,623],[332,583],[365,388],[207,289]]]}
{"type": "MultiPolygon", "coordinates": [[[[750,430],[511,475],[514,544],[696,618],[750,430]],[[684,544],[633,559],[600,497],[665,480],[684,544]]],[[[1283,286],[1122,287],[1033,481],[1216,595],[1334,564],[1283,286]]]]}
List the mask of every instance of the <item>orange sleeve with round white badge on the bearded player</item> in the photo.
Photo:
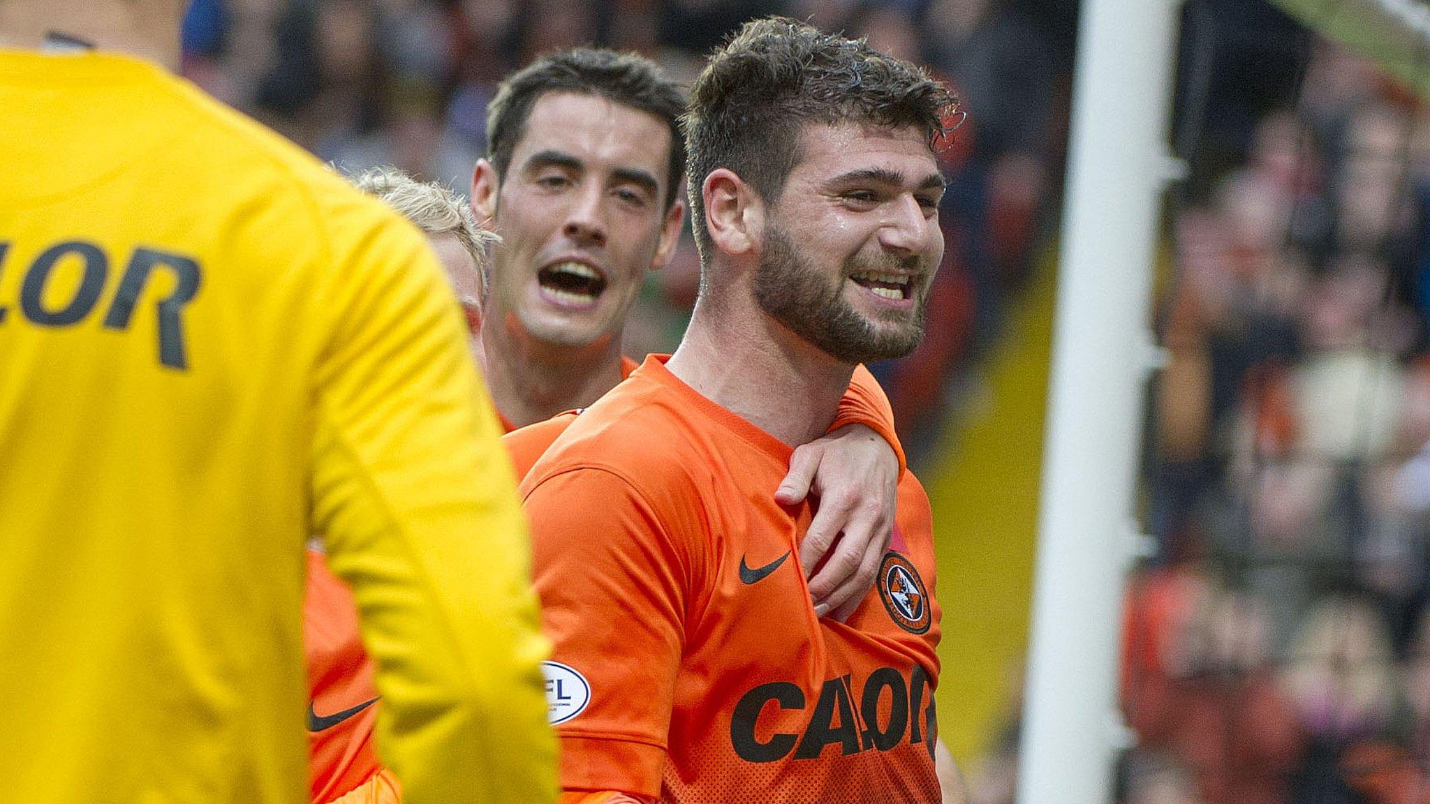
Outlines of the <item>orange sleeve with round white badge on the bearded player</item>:
{"type": "Polygon", "coordinates": [[[676,506],[579,466],[539,479],[525,508],[555,645],[548,697],[569,701],[552,710],[561,787],[656,798],[685,644],[688,561],[665,526],[676,506]]]}

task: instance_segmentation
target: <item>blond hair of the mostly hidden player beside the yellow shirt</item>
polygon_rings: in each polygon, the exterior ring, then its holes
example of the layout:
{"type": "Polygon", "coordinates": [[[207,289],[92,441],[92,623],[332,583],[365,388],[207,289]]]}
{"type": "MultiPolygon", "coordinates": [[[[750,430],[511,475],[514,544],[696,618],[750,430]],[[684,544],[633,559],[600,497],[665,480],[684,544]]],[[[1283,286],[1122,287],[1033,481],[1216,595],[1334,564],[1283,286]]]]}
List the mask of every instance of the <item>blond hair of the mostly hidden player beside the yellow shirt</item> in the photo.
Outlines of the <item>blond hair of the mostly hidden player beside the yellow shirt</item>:
{"type": "Polygon", "coordinates": [[[476,216],[462,196],[436,182],[418,182],[390,165],[363,170],[353,179],[353,185],[398,210],[428,235],[456,237],[472,255],[478,288],[482,296],[486,295],[486,272],[490,265],[486,249],[498,236],[476,225],[476,216]]]}

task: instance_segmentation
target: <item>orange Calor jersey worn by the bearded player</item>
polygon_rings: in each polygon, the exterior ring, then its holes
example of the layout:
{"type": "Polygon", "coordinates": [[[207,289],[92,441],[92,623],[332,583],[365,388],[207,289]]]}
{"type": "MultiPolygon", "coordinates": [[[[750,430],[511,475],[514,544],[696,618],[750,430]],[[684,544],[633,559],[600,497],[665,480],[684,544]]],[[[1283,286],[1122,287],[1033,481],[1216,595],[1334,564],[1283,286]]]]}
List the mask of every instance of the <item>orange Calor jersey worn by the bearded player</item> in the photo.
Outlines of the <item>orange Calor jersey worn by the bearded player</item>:
{"type": "Polygon", "coordinates": [[[878,582],[815,617],[791,448],[649,358],[522,482],[568,791],[669,803],[937,803],[940,611],[905,474],[878,582]]]}

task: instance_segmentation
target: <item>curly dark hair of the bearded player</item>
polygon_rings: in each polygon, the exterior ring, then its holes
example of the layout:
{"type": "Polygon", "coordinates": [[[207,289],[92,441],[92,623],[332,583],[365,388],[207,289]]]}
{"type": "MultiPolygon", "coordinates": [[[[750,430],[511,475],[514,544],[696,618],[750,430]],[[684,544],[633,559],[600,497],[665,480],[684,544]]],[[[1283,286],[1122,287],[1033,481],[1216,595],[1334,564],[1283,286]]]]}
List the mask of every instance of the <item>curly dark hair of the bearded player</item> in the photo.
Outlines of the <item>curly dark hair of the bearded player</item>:
{"type": "Polygon", "coordinates": [[[932,147],[957,109],[958,99],[922,67],[885,56],[862,39],[788,17],[745,23],[695,79],[681,117],[702,260],[709,259],[709,233],[701,185],[711,170],[734,170],[775,203],[799,163],[804,123],[914,126],[932,147]]]}

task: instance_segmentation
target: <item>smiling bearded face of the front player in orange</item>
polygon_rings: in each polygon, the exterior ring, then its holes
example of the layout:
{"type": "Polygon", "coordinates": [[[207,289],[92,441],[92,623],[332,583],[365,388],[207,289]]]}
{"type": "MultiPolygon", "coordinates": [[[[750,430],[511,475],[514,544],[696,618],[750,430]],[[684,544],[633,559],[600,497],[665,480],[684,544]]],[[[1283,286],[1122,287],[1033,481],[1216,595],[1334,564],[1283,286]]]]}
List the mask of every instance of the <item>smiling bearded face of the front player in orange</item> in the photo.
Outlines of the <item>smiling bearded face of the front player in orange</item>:
{"type": "Polygon", "coordinates": [[[899,358],[924,336],[944,256],[944,180],[917,129],[809,124],[762,233],[761,309],[848,363],[899,358]]]}

